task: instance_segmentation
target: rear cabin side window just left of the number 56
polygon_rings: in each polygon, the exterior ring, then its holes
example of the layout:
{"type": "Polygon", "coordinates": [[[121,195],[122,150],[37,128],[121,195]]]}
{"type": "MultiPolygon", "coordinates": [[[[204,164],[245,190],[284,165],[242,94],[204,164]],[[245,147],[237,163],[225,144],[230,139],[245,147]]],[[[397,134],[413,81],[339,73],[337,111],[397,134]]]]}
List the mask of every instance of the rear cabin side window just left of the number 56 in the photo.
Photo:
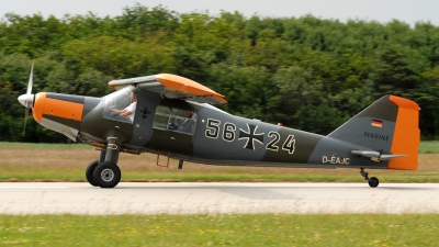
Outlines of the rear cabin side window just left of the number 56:
{"type": "Polygon", "coordinates": [[[190,110],[158,105],[153,127],[193,135],[196,113],[190,110]]]}

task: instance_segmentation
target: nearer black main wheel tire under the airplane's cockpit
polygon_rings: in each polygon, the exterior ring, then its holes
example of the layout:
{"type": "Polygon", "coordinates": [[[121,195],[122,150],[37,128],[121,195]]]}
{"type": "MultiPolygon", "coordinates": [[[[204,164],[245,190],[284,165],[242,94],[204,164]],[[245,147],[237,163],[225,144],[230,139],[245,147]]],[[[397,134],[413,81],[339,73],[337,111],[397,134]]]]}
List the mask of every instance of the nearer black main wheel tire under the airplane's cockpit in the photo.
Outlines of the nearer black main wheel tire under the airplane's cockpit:
{"type": "Polygon", "coordinates": [[[101,162],[93,171],[94,181],[101,188],[113,188],[121,181],[121,169],[114,162],[101,162]]]}

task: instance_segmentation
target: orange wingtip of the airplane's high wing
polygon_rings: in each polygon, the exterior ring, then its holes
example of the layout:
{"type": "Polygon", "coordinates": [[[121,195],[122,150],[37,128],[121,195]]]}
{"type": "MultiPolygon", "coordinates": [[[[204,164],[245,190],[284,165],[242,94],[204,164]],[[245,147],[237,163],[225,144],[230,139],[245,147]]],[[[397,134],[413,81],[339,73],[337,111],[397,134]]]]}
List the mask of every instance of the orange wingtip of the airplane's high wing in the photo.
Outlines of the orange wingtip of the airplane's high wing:
{"type": "Polygon", "coordinates": [[[191,79],[171,75],[171,74],[159,74],[156,75],[156,79],[160,81],[161,85],[164,85],[167,88],[173,89],[176,91],[189,93],[189,94],[194,94],[194,96],[206,96],[206,97],[213,97],[214,99],[218,100],[222,103],[227,103],[227,101],[224,99],[224,96],[213,91],[212,89],[204,87],[200,85],[196,81],[193,81],[191,79]]]}

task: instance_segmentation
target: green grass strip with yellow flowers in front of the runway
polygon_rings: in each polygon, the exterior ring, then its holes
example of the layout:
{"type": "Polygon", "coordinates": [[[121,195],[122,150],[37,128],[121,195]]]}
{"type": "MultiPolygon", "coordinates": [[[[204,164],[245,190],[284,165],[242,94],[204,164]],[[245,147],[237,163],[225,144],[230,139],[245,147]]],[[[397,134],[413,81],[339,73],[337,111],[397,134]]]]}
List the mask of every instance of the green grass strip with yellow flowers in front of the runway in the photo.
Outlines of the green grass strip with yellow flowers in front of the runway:
{"type": "Polygon", "coordinates": [[[1,246],[437,246],[438,214],[1,215],[1,246]]]}

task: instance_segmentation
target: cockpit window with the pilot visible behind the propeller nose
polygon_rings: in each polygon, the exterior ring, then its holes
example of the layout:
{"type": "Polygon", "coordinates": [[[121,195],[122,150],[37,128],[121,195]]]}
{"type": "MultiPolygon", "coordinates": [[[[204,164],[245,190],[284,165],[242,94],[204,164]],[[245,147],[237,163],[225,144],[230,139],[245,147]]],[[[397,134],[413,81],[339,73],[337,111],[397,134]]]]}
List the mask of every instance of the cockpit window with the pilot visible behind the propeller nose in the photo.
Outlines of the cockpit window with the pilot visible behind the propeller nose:
{"type": "Polygon", "coordinates": [[[115,91],[103,99],[103,117],[125,123],[133,123],[137,99],[130,88],[115,91]]]}

